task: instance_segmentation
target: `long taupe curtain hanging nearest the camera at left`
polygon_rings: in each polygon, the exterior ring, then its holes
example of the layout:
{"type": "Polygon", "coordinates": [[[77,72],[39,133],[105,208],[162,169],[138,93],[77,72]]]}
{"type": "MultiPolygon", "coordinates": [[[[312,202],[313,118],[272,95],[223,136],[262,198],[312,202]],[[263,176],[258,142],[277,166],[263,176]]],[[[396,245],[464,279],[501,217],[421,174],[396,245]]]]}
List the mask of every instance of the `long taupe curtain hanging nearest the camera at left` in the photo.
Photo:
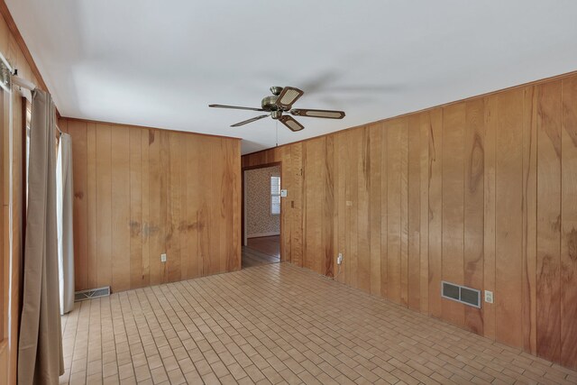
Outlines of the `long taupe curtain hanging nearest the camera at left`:
{"type": "Polygon", "coordinates": [[[18,344],[18,383],[21,385],[56,385],[59,375],[64,373],[58,295],[55,120],[50,94],[35,89],[18,344]]]}

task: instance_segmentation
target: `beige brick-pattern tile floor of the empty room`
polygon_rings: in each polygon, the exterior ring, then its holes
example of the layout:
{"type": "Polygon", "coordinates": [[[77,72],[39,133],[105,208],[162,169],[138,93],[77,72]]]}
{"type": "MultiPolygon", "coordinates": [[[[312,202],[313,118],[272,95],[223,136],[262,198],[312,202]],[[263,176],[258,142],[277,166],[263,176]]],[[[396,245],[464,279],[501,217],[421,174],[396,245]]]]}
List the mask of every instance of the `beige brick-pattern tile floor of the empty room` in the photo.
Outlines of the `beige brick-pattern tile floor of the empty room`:
{"type": "Polygon", "coordinates": [[[77,304],[60,383],[577,383],[577,372],[277,263],[77,304]]]}

